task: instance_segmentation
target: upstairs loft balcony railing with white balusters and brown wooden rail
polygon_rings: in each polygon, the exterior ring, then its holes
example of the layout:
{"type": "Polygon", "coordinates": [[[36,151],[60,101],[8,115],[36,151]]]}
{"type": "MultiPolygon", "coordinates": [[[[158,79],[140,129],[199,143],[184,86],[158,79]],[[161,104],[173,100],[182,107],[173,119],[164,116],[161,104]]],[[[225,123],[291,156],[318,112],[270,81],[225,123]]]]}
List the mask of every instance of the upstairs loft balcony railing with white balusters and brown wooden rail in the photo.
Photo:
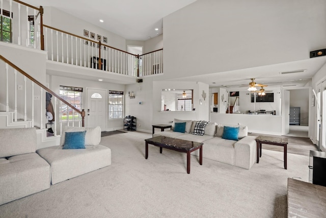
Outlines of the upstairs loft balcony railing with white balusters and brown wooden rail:
{"type": "Polygon", "coordinates": [[[143,55],[131,54],[101,41],[43,25],[42,6],[37,8],[17,0],[0,0],[0,3],[1,16],[7,13],[11,18],[9,42],[45,50],[48,60],[131,77],[163,72],[163,49],[143,55]]]}

